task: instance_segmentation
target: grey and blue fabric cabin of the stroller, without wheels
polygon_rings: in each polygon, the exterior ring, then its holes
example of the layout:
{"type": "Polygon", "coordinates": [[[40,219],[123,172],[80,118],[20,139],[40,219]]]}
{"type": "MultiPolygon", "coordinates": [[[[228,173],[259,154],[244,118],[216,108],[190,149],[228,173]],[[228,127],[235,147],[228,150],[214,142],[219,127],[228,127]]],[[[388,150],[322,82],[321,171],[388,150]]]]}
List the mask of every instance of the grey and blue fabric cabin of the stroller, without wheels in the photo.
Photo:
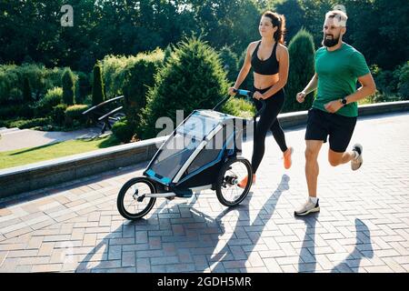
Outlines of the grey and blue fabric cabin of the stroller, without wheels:
{"type": "Polygon", "coordinates": [[[184,182],[221,160],[240,125],[243,119],[233,115],[195,110],[161,146],[145,175],[164,185],[184,182]]]}

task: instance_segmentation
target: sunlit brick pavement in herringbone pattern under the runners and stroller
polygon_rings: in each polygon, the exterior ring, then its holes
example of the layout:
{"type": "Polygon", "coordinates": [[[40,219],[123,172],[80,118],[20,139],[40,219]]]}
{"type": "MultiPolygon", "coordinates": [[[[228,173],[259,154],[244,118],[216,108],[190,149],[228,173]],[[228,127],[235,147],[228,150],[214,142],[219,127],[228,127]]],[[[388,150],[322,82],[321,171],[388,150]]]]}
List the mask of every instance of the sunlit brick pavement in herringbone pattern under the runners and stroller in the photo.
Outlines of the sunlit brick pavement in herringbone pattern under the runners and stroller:
{"type": "Polygon", "coordinates": [[[267,138],[257,184],[234,209],[210,191],[158,199],[145,219],[126,221],[116,195],[145,164],[3,202],[0,271],[409,272],[408,132],[409,114],[360,119],[357,172],[329,166],[323,146],[322,210],[302,219],[293,212],[306,197],[304,128],[287,131],[289,171],[267,138]]]}

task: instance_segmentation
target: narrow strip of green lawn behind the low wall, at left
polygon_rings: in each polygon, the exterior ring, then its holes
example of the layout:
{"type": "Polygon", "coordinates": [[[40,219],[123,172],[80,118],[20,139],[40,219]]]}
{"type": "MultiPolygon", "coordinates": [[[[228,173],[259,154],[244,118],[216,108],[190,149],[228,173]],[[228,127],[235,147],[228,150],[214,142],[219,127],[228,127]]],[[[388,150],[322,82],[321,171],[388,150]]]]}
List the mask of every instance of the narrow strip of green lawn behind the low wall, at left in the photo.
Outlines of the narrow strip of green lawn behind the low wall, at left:
{"type": "Polygon", "coordinates": [[[114,136],[109,135],[103,138],[69,140],[51,145],[2,152],[0,153],[0,169],[23,166],[61,156],[81,154],[119,144],[114,136]]]}

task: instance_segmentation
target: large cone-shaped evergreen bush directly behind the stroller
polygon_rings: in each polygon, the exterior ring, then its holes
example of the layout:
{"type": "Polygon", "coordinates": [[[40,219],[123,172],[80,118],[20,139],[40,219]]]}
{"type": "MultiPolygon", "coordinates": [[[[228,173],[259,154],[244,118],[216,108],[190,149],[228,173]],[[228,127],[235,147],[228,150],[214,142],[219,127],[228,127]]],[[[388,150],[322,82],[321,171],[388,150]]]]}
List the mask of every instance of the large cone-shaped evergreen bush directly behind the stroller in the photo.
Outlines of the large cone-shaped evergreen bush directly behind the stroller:
{"type": "Polygon", "coordinates": [[[176,110],[190,114],[199,108],[212,108],[227,93],[225,72],[214,49],[201,39],[180,42],[165,66],[155,75],[155,86],[148,90],[138,136],[150,138],[159,117],[174,122],[176,110]]]}

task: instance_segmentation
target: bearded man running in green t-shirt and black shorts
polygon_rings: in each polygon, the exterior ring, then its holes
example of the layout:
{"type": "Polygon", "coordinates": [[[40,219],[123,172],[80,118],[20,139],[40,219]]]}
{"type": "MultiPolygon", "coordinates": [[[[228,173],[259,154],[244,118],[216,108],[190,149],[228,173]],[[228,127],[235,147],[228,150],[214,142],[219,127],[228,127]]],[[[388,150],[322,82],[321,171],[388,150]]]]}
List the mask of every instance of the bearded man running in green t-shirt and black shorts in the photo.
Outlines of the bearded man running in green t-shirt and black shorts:
{"type": "Polygon", "coordinates": [[[315,74],[304,90],[296,95],[299,103],[318,89],[312,108],[308,112],[305,131],[305,177],[309,198],[294,215],[305,216],[320,210],[316,196],[319,167],[317,157],[329,136],[328,161],[331,166],[351,162],[355,171],[362,166],[363,146],[355,144],[352,151],[346,148],[354,133],[358,115],[356,101],[374,94],[374,79],[364,55],[343,42],[347,15],[343,11],[330,11],[325,15],[323,47],[315,52],[315,74]],[[356,90],[356,81],[361,87],[356,90]]]}

